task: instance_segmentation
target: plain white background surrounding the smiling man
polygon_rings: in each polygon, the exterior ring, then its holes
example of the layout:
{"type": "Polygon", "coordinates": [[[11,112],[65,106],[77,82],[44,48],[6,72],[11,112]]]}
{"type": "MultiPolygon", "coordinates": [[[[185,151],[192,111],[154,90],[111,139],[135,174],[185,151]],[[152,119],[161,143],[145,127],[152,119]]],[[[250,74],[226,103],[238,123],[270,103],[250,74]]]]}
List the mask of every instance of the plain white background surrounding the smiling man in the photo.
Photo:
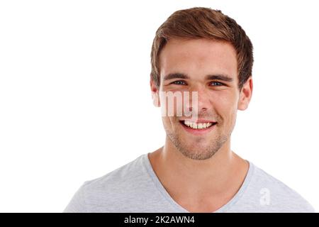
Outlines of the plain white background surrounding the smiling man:
{"type": "Polygon", "coordinates": [[[80,185],[164,143],[150,50],[174,11],[220,9],[254,45],[235,153],[318,211],[316,1],[0,1],[0,211],[61,212],[80,185]]]}

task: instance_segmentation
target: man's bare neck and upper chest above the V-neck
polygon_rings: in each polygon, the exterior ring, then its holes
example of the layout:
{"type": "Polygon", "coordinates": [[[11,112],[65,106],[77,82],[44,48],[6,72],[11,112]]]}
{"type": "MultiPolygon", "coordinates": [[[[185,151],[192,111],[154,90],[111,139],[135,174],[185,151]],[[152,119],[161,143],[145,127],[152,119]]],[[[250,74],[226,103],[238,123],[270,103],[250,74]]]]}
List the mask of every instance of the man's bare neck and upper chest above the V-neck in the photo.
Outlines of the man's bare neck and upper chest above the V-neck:
{"type": "Polygon", "coordinates": [[[202,201],[208,209],[227,203],[240,189],[249,167],[230,150],[229,141],[211,158],[192,160],[167,140],[164,147],[150,153],[149,159],[167,192],[189,209],[202,201]]]}

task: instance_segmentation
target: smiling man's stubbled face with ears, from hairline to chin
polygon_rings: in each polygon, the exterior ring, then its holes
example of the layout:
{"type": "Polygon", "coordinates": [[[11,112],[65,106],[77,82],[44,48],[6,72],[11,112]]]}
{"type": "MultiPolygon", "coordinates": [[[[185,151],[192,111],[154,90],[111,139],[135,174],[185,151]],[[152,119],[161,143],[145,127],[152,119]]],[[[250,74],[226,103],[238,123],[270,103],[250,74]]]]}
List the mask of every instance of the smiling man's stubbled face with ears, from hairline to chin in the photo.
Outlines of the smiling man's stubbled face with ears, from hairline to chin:
{"type": "MultiPolygon", "coordinates": [[[[169,40],[159,62],[160,86],[155,89],[151,80],[153,92],[190,92],[190,97],[191,92],[198,92],[197,111],[193,113],[196,121],[177,116],[176,109],[174,116],[162,117],[167,138],[186,157],[212,157],[230,143],[237,109],[246,109],[248,104],[242,99],[247,92],[242,94],[238,89],[235,49],[230,43],[207,39],[169,40]]],[[[163,100],[159,98],[159,102],[163,100]]],[[[191,105],[187,108],[194,111],[191,105]]]]}

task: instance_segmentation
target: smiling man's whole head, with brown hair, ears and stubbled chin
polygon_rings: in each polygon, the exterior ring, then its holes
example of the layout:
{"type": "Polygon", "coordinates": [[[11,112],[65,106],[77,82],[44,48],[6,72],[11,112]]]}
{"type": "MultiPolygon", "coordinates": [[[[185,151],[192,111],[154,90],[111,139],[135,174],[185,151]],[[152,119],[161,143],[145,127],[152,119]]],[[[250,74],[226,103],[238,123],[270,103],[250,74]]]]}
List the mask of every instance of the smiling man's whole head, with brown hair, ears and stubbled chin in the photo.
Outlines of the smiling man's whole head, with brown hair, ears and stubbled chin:
{"type": "Polygon", "coordinates": [[[167,138],[186,157],[212,157],[230,141],[237,109],[245,110],[252,95],[252,43],[245,31],[221,11],[176,11],[157,30],[151,62],[154,97],[198,92],[198,120],[164,116],[167,138]]]}

